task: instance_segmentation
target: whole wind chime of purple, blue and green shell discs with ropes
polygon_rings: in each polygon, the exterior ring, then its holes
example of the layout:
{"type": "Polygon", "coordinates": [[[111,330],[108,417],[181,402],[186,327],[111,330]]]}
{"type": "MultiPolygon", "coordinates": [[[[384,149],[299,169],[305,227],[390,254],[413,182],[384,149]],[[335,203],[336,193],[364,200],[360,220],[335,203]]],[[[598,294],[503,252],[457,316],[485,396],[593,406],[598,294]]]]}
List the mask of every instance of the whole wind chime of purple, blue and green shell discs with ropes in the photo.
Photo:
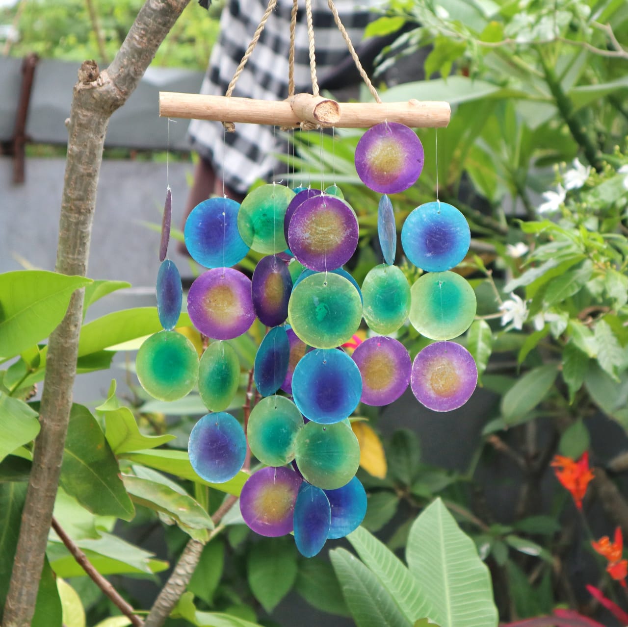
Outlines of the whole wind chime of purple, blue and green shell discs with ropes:
{"type": "MultiPolygon", "coordinates": [[[[475,316],[474,291],[451,269],[470,244],[467,221],[438,200],[411,212],[401,231],[407,259],[424,274],[409,286],[394,265],[396,225],[389,194],[408,189],[423,169],[424,151],[409,127],[447,126],[446,102],[383,104],[362,69],[340,18],[328,0],[373,104],[345,104],[318,95],[310,32],[313,95],[294,94],[293,53],[290,97],[265,102],[230,95],[237,77],[274,8],[266,9],[225,97],[160,94],[160,115],[234,122],[318,127],[369,127],[355,149],[355,168],[367,187],[381,193],[377,229],[384,257],[367,274],[362,290],[342,269],[358,244],[352,207],[334,185],[327,190],[291,189],[271,183],[251,191],[242,203],[210,198],[185,223],[187,249],[208,268],[192,284],[187,310],[200,333],[212,341],[200,362],[190,341],[174,330],[180,316],[181,279],[166,258],[171,219],[166,196],[157,278],[158,313],[164,331],[149,337],[137,358],[139,382],[157,399],[175,400],[195,385],[211,412],[192,429],[190,462],[203,480],[224,483],[241,469],[247,444],[264,465],[246,481],[240,508],[246,524],[265,536],[294,532],[298,550],[316,555],[327,539],[352,532],[366,512],[366,495],[355,477],[360,447],[349,417],[360,402],[387,405],[411,386],[429,409],[463,405],[475,389],[477,368],[463,346],[451,342],[475,316]],[[261,252],[252,279],[232,266],[249,249],[261,252]],[[254,361],[261,400],[246,431],[225,412],[239,384],[240,364],[229,340],[246,333],[258,318],[269,330],[254,361]],[[364,318],[374,333],[349,355],[364,318]],[[411,362],[406,348],[387,336],[409,318],[426,338],[436,340],[411,362]],[[283,394],[279,393],[279,390],[283,394]]],[[[310,0],[306,2],[311,24],[310,0]]],[[[291,50],[294,50],[293,9],[291,50]]],[[[438,186],[438,185],[437,185],[438,186]]]]}

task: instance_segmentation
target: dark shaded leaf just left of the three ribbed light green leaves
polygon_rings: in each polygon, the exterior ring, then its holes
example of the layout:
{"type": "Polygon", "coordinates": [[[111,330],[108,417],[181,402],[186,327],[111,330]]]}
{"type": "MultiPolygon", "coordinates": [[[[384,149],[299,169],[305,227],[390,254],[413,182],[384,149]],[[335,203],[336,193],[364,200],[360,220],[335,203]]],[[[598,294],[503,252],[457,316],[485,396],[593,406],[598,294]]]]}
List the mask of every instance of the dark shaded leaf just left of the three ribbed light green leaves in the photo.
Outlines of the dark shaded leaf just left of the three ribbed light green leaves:
{"type": "Polygon", "coordinates": [[[296,591],[313,607],[338,616],[350,616],[333,567],[321,559],[307,559],[299,564],[296,591]]]}

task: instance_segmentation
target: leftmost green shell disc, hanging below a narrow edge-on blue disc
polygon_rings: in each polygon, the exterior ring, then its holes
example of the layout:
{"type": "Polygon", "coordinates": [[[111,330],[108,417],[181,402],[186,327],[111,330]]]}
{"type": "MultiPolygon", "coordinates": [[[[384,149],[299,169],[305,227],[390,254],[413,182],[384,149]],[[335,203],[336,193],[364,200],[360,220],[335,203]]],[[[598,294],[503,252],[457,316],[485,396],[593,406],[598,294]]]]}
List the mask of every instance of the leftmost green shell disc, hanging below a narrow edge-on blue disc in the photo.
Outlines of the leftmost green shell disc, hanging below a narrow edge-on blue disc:
{"type": "Polygon", "coordinates": [[[176,331],[154,333],[139,348],[136,373],[140,385],[155,399],[182,399],[197,382],[197,350],[176,331]]]}

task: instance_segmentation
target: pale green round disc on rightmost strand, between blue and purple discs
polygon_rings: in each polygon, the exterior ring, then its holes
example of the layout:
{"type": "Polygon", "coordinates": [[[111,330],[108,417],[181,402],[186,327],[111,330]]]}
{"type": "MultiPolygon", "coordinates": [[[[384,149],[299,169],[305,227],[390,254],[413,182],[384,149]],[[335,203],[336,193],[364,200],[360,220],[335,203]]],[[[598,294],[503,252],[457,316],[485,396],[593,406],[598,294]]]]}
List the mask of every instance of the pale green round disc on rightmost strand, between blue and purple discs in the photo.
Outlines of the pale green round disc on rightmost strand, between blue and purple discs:
{"type": "Polygon", "coordinates": [[[464,333],[475,317],[475,292],[455,272],[428,272],[411,289],[410,322],[431,340],[451,340],[464,333]]]}

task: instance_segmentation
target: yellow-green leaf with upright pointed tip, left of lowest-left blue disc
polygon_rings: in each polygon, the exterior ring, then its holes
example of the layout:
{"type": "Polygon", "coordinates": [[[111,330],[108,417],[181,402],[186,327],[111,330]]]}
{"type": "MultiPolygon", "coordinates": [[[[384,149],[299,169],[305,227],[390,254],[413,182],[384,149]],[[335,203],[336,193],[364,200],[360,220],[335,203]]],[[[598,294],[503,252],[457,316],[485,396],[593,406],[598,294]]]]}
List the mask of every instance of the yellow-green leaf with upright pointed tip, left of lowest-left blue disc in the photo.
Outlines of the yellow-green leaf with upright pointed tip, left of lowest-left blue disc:
{"type": "Polygon", "coordinates": [[[161,446],[175,439],[176,436],[165,434],[163,436],[144,436],[139,431],[133,412],[119,404],[116,398],[116,380],[112,380],[109,386],[109,396],[97,411],[105,414],[105,435],[111,450],[116,454],[129,453],[130,451],[142,451],[161,446]]]}

